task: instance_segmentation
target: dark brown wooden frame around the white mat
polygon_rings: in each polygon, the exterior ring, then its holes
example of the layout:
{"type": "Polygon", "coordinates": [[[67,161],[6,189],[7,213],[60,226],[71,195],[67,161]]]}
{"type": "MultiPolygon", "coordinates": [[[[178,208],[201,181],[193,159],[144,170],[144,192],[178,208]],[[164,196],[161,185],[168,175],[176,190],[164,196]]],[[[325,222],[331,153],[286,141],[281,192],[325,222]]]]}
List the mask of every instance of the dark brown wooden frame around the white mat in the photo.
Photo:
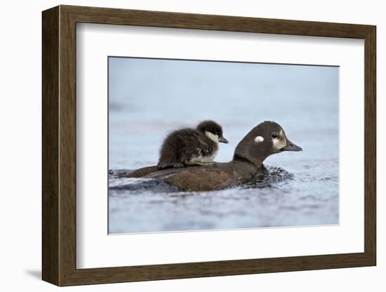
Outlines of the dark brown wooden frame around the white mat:
{"type": "MultiPolygon", "coordinates": [[[[42,278],[58,286],[376,264],[375,26],[57,6],[43,12],[42,278]],[[76,22],[364,39],[364,253],[76,269],[76,22]]],[[[359,190],[358,190],[359,191],[359,190]]]]}

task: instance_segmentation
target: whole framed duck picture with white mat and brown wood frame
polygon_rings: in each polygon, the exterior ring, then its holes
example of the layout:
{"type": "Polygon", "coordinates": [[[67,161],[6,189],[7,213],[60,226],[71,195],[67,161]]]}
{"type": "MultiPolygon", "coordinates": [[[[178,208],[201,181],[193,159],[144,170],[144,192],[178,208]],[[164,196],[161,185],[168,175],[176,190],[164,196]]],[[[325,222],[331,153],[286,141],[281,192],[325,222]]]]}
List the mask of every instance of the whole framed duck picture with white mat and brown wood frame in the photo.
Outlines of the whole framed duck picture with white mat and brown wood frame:
{"type": "Polygon", "coordinates": [[[375,265],[375,35],[44,11],[44,281],[375,265]]]}

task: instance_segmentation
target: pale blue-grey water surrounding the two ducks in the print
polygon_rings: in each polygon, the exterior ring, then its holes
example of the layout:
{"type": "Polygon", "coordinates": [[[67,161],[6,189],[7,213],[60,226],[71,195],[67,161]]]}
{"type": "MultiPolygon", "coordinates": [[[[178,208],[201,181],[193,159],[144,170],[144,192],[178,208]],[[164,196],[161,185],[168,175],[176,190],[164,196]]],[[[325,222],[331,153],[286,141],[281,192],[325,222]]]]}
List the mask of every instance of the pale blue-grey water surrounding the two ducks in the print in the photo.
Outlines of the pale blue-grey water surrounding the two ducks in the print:
{"type": "Polygon", "coordinates": [[[109,169],[109,233],[338,224],[338,67],[109,58],[109,169]],[[167,133],[204,119],[229,140],[215,161],[265,120],[303,152],[213,192],[119,177],[157,164],[167,133]]]}

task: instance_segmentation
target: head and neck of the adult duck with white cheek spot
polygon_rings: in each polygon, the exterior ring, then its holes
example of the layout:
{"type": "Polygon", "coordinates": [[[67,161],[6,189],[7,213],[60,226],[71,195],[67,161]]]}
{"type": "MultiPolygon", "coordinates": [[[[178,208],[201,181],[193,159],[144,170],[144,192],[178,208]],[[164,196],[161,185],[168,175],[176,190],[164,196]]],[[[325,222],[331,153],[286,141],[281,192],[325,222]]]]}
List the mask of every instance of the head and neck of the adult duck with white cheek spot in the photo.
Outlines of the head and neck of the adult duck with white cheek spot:
{"type": "Polygon", "coordinates": [[[239,142],[233,160],[249,161],[259,168],[269,155],[284,151],[302,151],[302,148],[288,140],[279,124],[264,121],[239,142]]]}

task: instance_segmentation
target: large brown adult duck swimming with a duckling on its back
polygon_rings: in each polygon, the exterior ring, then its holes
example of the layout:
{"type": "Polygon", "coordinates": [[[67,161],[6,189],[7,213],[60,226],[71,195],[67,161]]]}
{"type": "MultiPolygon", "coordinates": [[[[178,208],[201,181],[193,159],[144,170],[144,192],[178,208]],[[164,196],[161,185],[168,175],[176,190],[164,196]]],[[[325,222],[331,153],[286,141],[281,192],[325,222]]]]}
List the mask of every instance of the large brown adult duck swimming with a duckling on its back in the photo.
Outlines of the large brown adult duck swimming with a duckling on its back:
{"type": "Polygon", "coordinates": [[[262,163],[269,155],[285,151],[302,151],[302,148],[287,138],[279,124],[264,121],[249,131],[239,142],[232,161],[164,170],[159,170],[156,166],[147,166],[126,176],[163,180],[182,191],[220,190],[247,183],[255,175],[264,172],[265,167],[262,163]]]}

